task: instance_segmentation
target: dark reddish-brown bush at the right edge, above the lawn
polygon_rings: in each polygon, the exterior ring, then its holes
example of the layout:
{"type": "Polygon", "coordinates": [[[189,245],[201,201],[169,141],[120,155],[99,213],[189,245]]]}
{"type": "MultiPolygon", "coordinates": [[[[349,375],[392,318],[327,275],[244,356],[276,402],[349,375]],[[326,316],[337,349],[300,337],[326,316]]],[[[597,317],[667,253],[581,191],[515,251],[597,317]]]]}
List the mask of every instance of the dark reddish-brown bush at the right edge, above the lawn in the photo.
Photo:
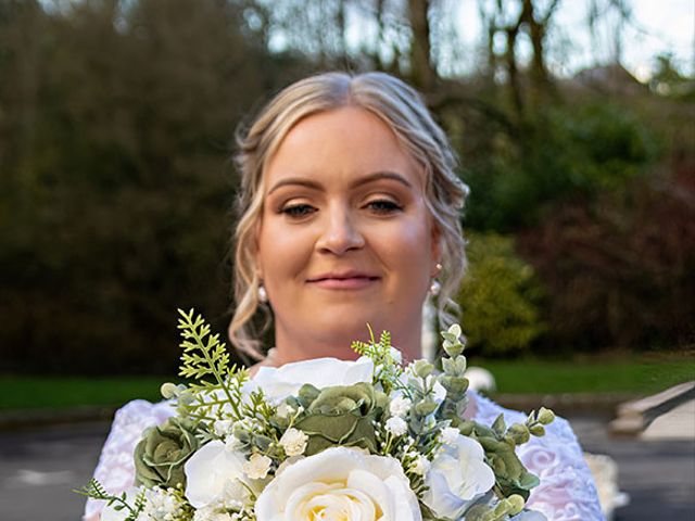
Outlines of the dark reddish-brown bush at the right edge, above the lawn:
{"type": "Polygon", "coordinates": [[[517,237],[546,291],[548,348],[692,347],[694,165],[593,203],[557,205],[517,237]]]}

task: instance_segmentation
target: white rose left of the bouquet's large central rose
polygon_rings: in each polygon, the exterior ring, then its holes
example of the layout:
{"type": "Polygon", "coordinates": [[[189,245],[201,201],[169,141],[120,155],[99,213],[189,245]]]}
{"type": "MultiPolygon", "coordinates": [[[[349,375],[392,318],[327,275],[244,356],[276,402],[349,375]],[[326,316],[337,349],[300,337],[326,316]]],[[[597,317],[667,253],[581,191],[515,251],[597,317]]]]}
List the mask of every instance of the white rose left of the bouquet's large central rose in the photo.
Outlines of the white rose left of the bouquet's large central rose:
{"type": "Polygon", "coordinates": [[[245,459],[242,454],[226,448],[218,440],[195,452],[186,465],[186,497],[195,508],[220,501],[250,503],[249,491],[254,488],[244,476],[245,459]]]}

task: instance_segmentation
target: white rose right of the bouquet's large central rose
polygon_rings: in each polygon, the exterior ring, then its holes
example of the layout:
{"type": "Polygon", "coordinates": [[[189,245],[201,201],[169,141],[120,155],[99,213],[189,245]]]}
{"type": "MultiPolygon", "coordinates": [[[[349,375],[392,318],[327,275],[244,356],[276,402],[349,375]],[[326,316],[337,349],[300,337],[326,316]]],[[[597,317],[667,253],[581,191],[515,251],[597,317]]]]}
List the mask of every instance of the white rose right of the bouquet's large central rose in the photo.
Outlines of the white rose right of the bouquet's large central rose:
{"type": "Polygon", "coordinates": [[[440,518],[458,519],[464,510],[495,484],[495,474],[484,462],[477,441],[458,435],[453,445],[442,446],[434,457],[425,484],[422,503],[440,518]]]}

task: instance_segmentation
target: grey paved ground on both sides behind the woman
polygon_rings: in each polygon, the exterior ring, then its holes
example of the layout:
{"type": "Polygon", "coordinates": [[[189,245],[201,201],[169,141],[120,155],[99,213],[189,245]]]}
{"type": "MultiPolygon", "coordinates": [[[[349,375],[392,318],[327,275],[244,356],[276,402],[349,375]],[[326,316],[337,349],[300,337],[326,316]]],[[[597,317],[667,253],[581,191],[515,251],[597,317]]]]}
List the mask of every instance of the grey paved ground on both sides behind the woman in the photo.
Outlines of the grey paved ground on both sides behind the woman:
{"type": "MultiPolygon", "coordinates": [[[[610,439],[609,419],[571,421],[585,450],[619,465],[632,503],[616,521],[695,520],[695,443],[610,439]]],[[[77,521],[84,499],[71,490],[89,480],[108,430],[89,423],[0,432],[0,519],[77,521]]]]}

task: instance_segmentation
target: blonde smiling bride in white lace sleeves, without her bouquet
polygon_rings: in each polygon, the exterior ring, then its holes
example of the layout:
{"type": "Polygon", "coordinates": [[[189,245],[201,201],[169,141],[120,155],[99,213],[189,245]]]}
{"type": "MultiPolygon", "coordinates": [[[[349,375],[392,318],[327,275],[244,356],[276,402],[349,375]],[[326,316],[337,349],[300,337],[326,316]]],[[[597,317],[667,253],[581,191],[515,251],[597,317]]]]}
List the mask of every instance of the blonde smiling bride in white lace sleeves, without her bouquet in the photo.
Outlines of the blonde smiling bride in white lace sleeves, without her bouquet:
{"type": "MultiPolygon", "coordinates": [[[[329,73],[280,92],[239,140],[241,217],[236,232],[237,307],[229,338],[252,368],[317,357],[353,358],[366,323],[420,356],[428,293],[440,323],[464,274],[459,209],[467,188],[455,156],[417,92],[381,73],[329,73]],[[252,325],[270,317],[263,355],[252,325]]],[[[494,281],[490,281],[493,283],[494,281]]],[[[508,423],[520,412],[470,393],[467,416],[508,423]]],[[[116,412],[94,476],[110,492],[132,485],[141,432],[173,411],[136,401],[116,412]]],[[[541,478],[528,506],[548,520],[603,519],[591,473],[569,425],[519,448],[541,478]]],[[[85,520],[101,505],[88,501],[85,520]]]]}

